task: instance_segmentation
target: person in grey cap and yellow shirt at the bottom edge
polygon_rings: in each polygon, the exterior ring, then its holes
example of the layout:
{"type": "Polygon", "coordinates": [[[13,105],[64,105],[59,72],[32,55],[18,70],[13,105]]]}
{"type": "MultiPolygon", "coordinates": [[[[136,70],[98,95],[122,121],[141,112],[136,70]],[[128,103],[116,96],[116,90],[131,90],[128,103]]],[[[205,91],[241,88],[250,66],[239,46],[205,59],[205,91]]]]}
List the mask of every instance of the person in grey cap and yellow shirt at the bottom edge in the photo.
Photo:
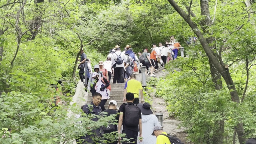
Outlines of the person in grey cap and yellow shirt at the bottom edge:
{"type": "Polygon", "coordinates": [[[154,131],[152,135],[156,136],[156,144],[171,144],[170,140],[168,137],[160,134],[165,134],[167,135],[166,132],[164,132],[164,129],[161,125],[156,125],[154,127],[154,131]]]}

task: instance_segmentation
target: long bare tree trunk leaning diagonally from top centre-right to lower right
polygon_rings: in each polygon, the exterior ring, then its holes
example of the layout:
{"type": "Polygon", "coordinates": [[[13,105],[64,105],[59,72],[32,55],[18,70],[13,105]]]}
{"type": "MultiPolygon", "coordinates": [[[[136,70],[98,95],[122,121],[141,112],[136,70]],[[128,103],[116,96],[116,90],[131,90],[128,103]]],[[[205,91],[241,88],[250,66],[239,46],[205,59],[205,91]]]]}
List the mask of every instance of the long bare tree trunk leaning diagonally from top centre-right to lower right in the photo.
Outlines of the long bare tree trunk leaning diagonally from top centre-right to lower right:
{"type": "MultiPolygon", "coordinates": [[[[174,0],[168,0],[169,3],[173,6],[173,8],[176,10],[176,12],[179,13],[180,16],[188,23],[188,25],[192,28],[196,36],[199,38],[199,41],[202,45],[202,48],[204,49],[207,57],[209,58],[209,61],[211,64],[214,65],[214,67],[217,69],[217,71],[221,74],[223,79],[226,82],[226,85],[228,86],[228,89],[230,90],[231,100],[234,102],[239,103],[240,99],[237,93],[237,90],[235,88],[234,82],[232,80],[232,77],[229,73],[229,69],[225,68],[225,65],[221,58],[219,60],[216,58],[214,53],[212,52],[210,46],[208,45],[206,39],[204,38],[201,31],[198,29],[197,25],[191,20],[190,16],[180,8],[180,6],[177,5],[177,3],[174,0]]],[[[244,138],[245,132],[243,128],[243,123],[241,120],[237,123],[237,134],[238,134],[238,140],[240,144],[244,144],[246,139],[244,138]]]]}

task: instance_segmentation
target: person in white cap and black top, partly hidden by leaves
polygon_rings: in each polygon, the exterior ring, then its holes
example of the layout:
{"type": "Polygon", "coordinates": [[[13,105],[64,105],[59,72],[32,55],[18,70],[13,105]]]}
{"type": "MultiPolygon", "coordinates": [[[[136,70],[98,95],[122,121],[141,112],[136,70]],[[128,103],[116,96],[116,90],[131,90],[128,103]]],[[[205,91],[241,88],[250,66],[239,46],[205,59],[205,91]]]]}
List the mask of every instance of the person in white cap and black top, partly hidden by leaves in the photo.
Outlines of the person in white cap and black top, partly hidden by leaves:
{"type": "MultiPolygon", "coordinates": [[[[114,116],[115,119],[116,119],[115,122],[118,122],[119,113],[118,113],[118,111],[116,111],[118,109],[119,109],[119,107],[117,106],[117,102],[112,100],[112,101],[109,101],[109,109],[105,110],[103,112],[107,113],[106,116],[111,116],[111,115],[114,116]]],[[[107,126],[107,129],[103,129],[104,134],[106,134],[106,133],[110,134],[111,132],[115,132],[115,131],[118,131],[117,124],[115,124],[115,125],[110,124],[110,125],[107,126]]],[[[114,141],[112,143],[108,143],[108,144],[118,144],[118,140],[114,141]]]]}

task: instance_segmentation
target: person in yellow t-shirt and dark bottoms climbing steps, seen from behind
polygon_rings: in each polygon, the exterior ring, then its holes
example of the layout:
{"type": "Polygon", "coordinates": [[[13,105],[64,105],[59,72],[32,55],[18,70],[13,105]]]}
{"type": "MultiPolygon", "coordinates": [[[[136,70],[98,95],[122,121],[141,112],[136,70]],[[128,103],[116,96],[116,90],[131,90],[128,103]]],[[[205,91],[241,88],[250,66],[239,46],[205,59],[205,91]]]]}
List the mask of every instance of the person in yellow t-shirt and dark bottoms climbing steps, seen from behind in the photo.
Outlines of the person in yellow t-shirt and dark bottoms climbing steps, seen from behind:
{"type": "Polygon", "coordinates": [[[138,104],[139,103],[139,96],[138,96],[138,93],[140,92],[140,96],[141,96],[141,103],[144,102],[144,99],[143,99],[143,92],[142,92],[142,86],[141,86],[141,83],[138,81],[138,80],[135,80],[136,79],[136,76],[135,74],[131,74],[130,75],[130,80],[128,80],[126,83],[125,83],[125,91],[124,91],[124,103],[126,101],[126,98],[125,98],[125,95],[127,94],[127,92],[131,92],[132,94],[134,94],[134,104],[138,104]]]}

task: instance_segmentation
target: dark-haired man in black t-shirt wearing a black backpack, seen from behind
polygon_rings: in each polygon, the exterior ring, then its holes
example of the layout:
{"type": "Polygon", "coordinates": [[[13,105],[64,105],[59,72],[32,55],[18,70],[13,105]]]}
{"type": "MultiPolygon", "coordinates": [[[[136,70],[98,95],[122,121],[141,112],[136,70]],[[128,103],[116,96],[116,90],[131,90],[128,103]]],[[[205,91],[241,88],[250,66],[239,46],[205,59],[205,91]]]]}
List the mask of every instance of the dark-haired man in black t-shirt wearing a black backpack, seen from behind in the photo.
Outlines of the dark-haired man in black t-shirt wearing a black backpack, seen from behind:
{"type": "MultiPolygon", "coordinates": [[[[134,101],[134,94],[132,94],[131,92],[128,92],[126,95],[126,101],[127,101],[127,104],[129,105],[134,105],[133,101],[134,101]]],[[[139,132],[139,129],[140,129],[140,135],[139,137],[142,137],[142,122],[141,122],[141,111],[140,111],[140,108],[138,108],[138,118],[137,119],[133,119],[131,120],[132,122],[136,122],[138,123],[138,125],[136,126],[128,126],[127,125],[127,122],[125,122],[125,108],[126,108],[126,105],[127,104],[122,104],[119,108],[119,113],[120,113],[120,117],[119,117],[119,121],[118,121],[118,133],[120,134],[120,131],[121,131],[121,126],[123,124],[123,131],[122,131],[122,134],[126,134],[126,137],[125,138],[128,138],[128,139],[131,139],[130,142],[137,142],[137,138],[138,138],[138,132],[139,132]]],[[[137,105],[136,105],[137,107],[137,105]]],[[[120,140],[120,139],[119,139],[120,140]]],[[[140,140],[141,142],[142,140],[140,140]]],[[[125,142],[122,142],[122,144],[129,144],[129,143],[125,143],[125,142]]]]}

